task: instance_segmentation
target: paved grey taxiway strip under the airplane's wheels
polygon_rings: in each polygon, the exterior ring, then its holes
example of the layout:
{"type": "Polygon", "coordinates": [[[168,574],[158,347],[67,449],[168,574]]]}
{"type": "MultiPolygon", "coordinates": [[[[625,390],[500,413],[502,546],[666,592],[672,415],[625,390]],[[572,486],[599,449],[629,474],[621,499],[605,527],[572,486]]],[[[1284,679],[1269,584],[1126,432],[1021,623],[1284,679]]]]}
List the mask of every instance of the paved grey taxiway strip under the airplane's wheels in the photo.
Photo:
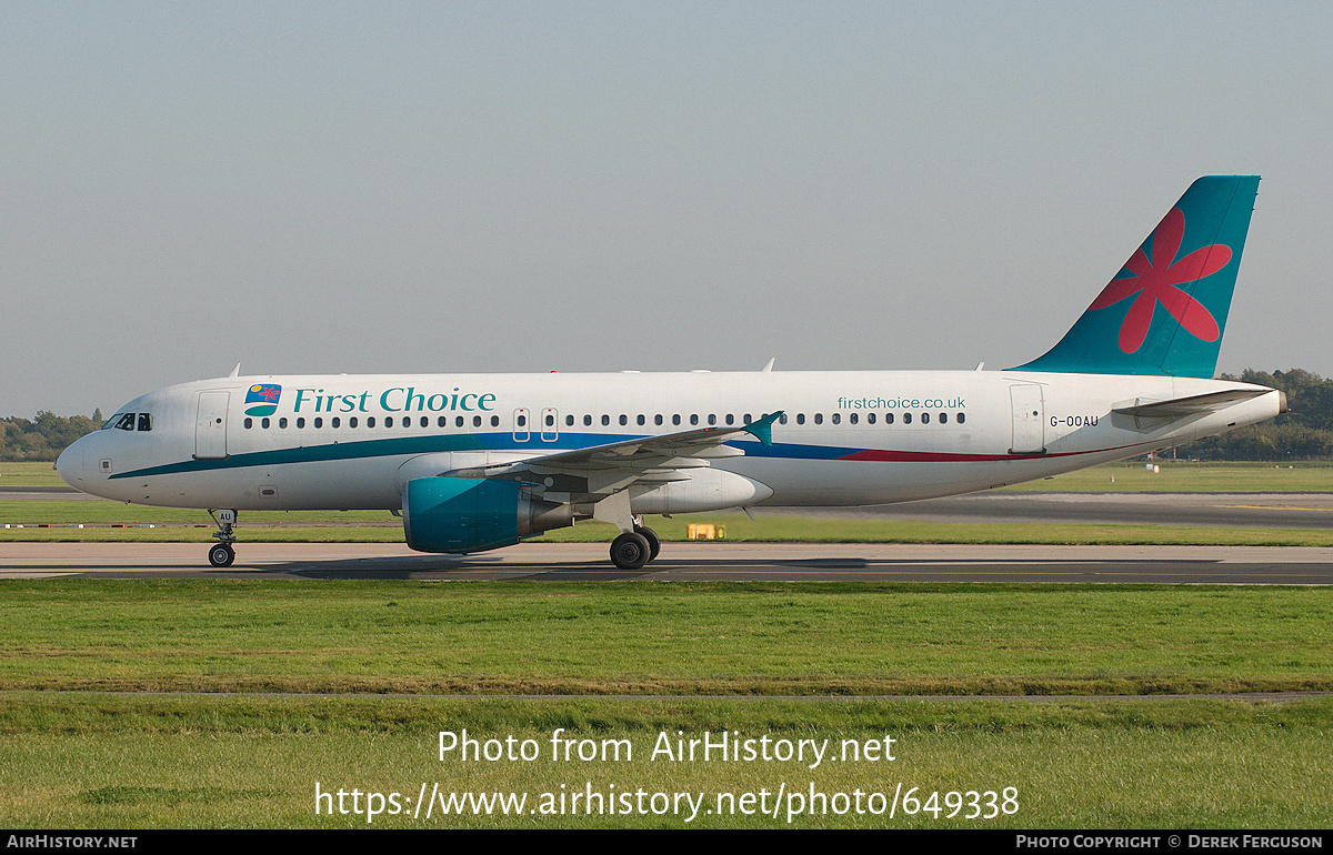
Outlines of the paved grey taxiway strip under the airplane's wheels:
{"type": "Polygon", "coordinates": [[[203,543],[0,543],[0,579],[620,579],[1333,585],[1333,547],[664,543],[617,570],[604,543],[520,543],[469,557],[395,543],[239,543],[209,567],[203,543]]]}

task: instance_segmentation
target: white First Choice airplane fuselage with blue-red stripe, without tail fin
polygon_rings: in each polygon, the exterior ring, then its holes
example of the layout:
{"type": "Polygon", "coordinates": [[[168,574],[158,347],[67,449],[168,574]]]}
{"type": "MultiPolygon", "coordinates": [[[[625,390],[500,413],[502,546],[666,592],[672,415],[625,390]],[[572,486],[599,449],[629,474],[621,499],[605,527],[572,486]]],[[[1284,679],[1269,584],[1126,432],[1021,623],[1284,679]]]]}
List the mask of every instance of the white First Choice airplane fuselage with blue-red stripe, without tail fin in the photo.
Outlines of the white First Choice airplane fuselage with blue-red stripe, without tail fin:
{"type": "MultiPolygon", "coordinates": [[[[133,430],[113,417],[57,469],[80,490],[144,505],[397,510],[411,478],[781,410],[772,446],[730,439],[734,455],[692,461],[670,485],[635,485],[633,511],[874,505],[1042,478],[1281,412],[1268,390],[1182,418],[1112,413],[1230,389],[1257,388],[1032,372],[229,377],[131,401],[117,416],[133,413],[133,430]],[[247,416],[261,385],[280,388],[276,408],[247,416]]],[[[559,489],[544,498],[569,501],[559,489]]]]}

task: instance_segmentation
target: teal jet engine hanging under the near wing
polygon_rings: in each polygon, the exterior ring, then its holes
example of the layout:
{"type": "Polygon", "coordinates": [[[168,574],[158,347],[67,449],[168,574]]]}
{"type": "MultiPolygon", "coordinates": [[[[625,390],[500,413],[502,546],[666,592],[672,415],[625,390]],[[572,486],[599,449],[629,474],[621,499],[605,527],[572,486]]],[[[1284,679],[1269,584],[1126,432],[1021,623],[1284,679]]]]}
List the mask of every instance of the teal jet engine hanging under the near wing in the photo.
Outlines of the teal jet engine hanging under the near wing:
{"type": "Polygon", "coordinates": [[[533,498],[516,481],[413,478],[403,490],[403,530],[423,553],[480,553],[571,525],[569,505],[533,498]]]}

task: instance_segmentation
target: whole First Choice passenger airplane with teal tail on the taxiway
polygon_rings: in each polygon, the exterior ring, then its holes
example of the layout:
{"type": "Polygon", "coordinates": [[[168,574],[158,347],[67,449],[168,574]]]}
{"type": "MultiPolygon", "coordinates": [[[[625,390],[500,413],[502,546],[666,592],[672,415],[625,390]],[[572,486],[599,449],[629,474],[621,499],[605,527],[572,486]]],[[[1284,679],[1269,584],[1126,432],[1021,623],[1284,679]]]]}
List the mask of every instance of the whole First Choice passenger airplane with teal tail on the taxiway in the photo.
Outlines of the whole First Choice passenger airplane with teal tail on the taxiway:
{"type": "Polygon", "coordinates": [[[905,502],[1136,457],[1286,412],[1213,380],[1258,176],[1196,181],[1045,354],[1005,370],[231,376],[135,398],[56,462],[132,503],[385,509],[477,553],[575,521],[659,555],[645,514],[905,502]]]}

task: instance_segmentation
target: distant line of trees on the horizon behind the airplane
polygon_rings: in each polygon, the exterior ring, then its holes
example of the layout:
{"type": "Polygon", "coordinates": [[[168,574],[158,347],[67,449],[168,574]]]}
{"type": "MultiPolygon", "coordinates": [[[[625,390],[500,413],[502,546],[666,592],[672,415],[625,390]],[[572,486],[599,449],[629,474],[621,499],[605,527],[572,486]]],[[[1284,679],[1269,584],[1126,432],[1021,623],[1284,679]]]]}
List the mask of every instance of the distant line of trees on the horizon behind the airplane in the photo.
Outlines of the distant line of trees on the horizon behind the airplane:
{"type": "MultiPolygon", "coordinates": [[[[1333,458],[1333,380],[1293,368],[1286,372],[1245,369],[1236,380],[1281,389],[1290,412],[1258,425],[1208,437],[1180,451],[1210,461],[1308,461],[1333,458]]],[[[53,461],[67,445],[101,428],[101,410],[56,416],[39,410],[33,420],[0,418],[0,461],[53,461]]]]}

